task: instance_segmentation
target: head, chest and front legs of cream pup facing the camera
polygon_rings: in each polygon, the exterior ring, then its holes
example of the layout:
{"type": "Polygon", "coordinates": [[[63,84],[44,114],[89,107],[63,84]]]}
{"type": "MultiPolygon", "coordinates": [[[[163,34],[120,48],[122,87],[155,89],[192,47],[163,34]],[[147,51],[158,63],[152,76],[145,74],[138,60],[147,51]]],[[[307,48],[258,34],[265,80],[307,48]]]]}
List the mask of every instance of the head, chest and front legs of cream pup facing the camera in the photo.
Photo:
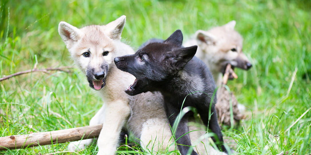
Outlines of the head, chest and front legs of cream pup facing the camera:
{"type": "MultiPolygon", "coordinates": [[[[104,100],[103,106],[91,119],[90,125],[103,124],[98,137],[98,154],[114,154],[118,137],[126,118],[130,114],[129,96],[124,92],[132,75],[118,70],[114,57],[134,53],[131,47],[122,43],[121,32],[125,16],[107,25],[91,25],[78,29],[66,22],[60,22],[58,32],[74,60],[86,74],[91,88],[98,90],[98,96],[104,100]],[[103,88],[103,89],[101,89],[103,88]]],[[[86,139],[71,144],[85,148],[92,142],[86,139]]]]}

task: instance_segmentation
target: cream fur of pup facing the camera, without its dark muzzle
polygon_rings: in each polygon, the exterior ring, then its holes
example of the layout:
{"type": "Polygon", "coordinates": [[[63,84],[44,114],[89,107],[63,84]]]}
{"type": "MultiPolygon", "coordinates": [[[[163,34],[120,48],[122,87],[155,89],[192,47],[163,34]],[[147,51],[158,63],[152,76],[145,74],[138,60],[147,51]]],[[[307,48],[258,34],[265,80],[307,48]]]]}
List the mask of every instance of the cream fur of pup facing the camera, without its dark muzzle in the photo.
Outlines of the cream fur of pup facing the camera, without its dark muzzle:
{"type": "MultiPolygon", "coordinates": [[[[98,154],[115,153],[122,127],[126,127],[139,138],[139,143],[146,150],[165,151],[168,146],[169,150],[174,150],[174,141],[171,139],[172,134],[163,107],[163,96],[151,92],[129,96],[124,92],[135,79],[129,73],[117,69],[113,61],[114,57],[134,53],[131,47],[120,41],[124,23],[124,15],[107,25],[91,25],[81,29],[66,22],[59,23],[59,34],[83,73],[86,74],[87,66],[91,65],[96,69],[102,63],[109,64],[109,71],[105,73],[106,85],[96,91],[103,99],[103,106],[90,121],[90,125],[103,124],[97,141],[98,154]],[[82,54],[88,50],[90,57],[83,57],[82,54]],[[103,50],[109,51],[109,54],[103,56],[103,50]]],[[[193,136],[195,135],[200,136],[193,136]]],[[[72,142],[68,148],[83,149],[92,141],[93,139],[85,139],[72,142]]],[[[209,154],[221,153],[209,144],[207,146],[209,154]]],[[[205,150],[204,146],[199,148],[205,150]]]]}

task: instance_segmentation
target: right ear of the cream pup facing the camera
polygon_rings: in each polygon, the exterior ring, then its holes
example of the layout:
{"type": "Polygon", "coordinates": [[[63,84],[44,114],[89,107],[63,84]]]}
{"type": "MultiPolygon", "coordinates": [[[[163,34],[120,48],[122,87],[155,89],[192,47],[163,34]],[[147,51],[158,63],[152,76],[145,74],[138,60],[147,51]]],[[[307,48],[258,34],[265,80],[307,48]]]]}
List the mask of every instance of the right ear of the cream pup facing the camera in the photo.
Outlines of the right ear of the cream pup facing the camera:
{"type": "Polygon", "coordinates": [[[122,15],[118,19],[108,23],[107,25],[103,26],[104,32],[111,38],[111,39],[121,39],[121,34],[124,28],[126,16],[122,15]]]}

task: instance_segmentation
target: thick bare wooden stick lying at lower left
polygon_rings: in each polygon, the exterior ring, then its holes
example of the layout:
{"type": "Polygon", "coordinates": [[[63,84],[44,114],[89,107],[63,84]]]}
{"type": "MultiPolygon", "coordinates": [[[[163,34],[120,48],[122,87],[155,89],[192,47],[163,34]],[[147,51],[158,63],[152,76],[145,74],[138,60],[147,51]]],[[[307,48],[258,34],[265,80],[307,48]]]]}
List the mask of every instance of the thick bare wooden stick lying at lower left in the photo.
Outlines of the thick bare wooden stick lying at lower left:
{"type": "Polygon", "coordinates": [[[95,126],[83,126],[71,129],[38,132],[28,135],[11,135],[0,137],[0,151],[18,148],[35,147],[77,141],[81,139],[96,138],[99,136],[102,124],[95,126]]]}

